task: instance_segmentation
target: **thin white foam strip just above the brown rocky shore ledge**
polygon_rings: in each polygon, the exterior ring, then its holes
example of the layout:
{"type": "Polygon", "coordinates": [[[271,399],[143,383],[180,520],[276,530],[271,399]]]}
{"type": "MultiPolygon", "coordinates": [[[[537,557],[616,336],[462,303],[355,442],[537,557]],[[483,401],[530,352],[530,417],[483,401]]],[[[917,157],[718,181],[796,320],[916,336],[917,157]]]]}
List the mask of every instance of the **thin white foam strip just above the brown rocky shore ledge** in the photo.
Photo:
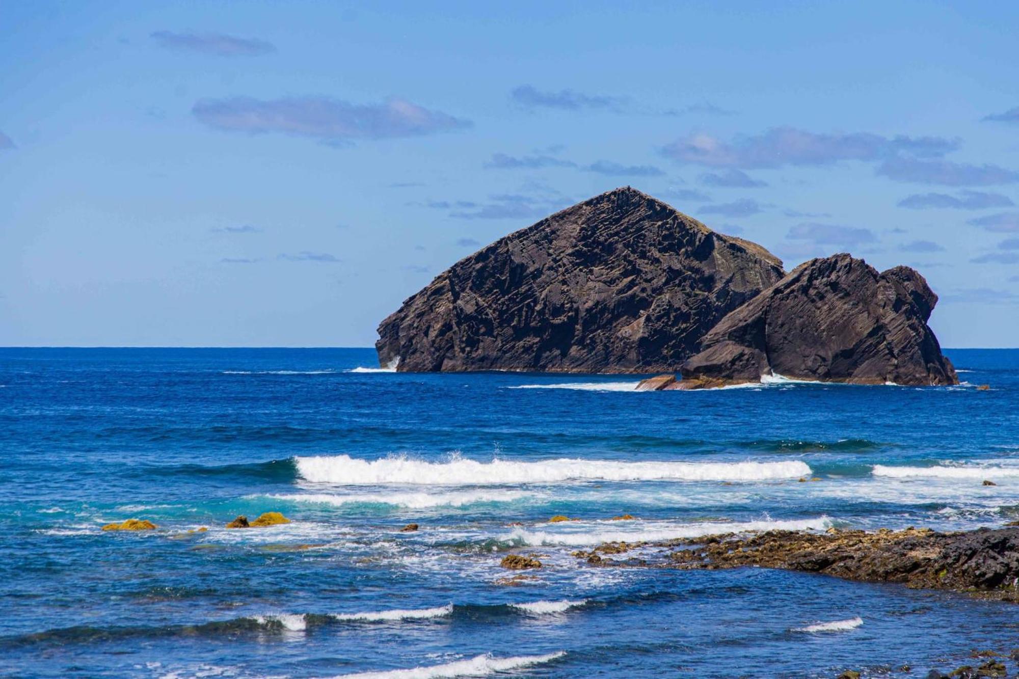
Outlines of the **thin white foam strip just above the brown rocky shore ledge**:
{"type": "Polygon", "coordinates": [[[798,521],[745,521],[742,523],[671,523],[642,522],[631,530],[604,530],[600,525],[590,530],[586,522],[564,522],[561,530],[517,528],[500,539],[528,546],[585,546],[602,542],[654,542],[680,537],[702,537],[721,533],[745,533],[763,530],[824,530],[832,526],[826,516],[798,521]],[[649,525],[650,524],[650,525],[649,525]]]}

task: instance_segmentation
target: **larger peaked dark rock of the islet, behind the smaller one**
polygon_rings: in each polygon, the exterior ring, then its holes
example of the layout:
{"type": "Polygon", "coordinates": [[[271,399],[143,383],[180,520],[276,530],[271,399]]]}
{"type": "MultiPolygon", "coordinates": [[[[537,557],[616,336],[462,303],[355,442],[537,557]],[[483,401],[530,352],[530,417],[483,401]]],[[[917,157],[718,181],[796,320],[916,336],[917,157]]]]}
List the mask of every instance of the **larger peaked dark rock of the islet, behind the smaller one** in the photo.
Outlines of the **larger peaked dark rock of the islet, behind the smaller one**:
{"type": "Polygon", "coordinates": [[[675,372],[783,273],[760,246],[616,189],[455,263],[375,347],[401,371],[675,372]]]}

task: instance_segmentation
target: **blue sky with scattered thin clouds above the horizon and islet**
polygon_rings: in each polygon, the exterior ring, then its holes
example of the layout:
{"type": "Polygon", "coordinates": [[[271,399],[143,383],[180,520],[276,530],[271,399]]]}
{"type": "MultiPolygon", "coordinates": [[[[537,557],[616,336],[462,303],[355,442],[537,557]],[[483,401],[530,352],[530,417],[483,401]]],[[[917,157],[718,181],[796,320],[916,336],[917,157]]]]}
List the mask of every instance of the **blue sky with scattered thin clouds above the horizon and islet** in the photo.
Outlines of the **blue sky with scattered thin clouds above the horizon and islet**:
{"type": "Polygon", "coordinates": [[[0,0],[0,345],[367,347],[632,186],[1019,347],[1019,3],[0,0]]]}

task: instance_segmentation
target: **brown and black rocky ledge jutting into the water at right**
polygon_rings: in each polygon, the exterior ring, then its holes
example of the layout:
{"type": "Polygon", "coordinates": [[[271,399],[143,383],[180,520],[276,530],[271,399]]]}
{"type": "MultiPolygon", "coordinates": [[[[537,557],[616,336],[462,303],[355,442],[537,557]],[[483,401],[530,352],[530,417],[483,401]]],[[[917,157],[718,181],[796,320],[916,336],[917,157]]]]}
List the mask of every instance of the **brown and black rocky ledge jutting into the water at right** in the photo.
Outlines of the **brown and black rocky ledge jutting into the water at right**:
{"type": "Polygon", "coordinates": [[[824,534],[774,530],[682,542],[695,546],[672,553],[676,568],[785,568],[1019,602],[1019,528],[961,533],[929,528],[873,533],[832,529],[824,534]]]}

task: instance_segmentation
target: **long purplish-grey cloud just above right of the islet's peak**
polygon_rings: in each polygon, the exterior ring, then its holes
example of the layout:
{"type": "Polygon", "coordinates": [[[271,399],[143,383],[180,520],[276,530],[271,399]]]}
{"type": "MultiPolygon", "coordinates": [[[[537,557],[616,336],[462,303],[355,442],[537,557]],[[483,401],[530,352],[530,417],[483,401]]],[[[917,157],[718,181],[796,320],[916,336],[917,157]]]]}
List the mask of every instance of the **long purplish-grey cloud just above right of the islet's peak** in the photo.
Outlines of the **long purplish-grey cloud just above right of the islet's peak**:
{"type": "Polygon", "coordinates": [[[842,160],[877,161],[898,153],[937,157],[958,148],[958,140],[941,137],[888,138],[870,133],[815,134],[795,127],[772,127],[760,135],[737,137],[732,142],[694,134],[668,144],[661,152],[681,163],[758,168],[829,165],[842,160]]]}

